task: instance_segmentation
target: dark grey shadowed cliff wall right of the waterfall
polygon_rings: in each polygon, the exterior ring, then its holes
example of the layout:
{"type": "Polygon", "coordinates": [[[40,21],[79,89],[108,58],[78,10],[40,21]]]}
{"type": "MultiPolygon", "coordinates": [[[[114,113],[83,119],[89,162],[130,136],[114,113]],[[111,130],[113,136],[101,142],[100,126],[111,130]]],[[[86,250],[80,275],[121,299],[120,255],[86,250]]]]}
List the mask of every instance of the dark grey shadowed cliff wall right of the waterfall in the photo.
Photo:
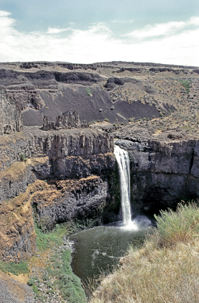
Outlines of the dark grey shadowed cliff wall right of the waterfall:
{"type": "Polygon", "coordinates": [[[135,211],[154,214],[199,195],[199,140],[161,142],[116,140],[131,159],[131,196],[135,211]]]}

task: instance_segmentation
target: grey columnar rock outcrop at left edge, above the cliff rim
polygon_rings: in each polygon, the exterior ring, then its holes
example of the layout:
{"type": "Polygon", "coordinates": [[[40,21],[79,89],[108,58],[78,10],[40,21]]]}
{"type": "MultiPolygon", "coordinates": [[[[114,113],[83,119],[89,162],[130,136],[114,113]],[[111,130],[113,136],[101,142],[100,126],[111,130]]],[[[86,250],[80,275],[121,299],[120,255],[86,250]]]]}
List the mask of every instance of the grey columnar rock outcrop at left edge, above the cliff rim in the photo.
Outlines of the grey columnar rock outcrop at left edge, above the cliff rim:
{"type": "Polygon", "coordinates": [[[0,87],[0,135],[21,132],[23,130],[22,113],[12,98],[0,87]]]}

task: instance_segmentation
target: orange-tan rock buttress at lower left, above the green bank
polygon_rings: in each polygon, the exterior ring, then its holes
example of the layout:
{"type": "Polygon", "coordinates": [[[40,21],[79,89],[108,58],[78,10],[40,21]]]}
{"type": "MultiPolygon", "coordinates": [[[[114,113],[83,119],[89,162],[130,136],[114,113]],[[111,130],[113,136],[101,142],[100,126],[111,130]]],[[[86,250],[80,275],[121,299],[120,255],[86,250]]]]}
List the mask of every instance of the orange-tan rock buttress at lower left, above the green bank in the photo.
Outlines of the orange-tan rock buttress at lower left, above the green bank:
{"type": "Polygon", "coordinates": [[[0,205],[0,258],[18,262],[30,258],[36,252],[30,199],[19,197],[5,200],[0,205]]]}

